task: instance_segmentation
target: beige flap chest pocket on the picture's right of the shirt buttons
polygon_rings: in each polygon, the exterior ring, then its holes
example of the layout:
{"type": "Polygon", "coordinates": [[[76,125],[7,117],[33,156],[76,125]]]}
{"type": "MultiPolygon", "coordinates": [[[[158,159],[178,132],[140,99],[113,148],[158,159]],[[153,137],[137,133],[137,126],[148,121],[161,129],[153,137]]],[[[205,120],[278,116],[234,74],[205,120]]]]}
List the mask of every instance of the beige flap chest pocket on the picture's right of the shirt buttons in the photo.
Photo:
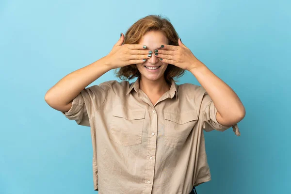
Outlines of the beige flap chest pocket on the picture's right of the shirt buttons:
{"type": "Polygon", "coordinates": [[[164,145],[168,147],[181,147],[195,124],[198,116],[195,110],[173,113],[164,111],[164,145]]]}

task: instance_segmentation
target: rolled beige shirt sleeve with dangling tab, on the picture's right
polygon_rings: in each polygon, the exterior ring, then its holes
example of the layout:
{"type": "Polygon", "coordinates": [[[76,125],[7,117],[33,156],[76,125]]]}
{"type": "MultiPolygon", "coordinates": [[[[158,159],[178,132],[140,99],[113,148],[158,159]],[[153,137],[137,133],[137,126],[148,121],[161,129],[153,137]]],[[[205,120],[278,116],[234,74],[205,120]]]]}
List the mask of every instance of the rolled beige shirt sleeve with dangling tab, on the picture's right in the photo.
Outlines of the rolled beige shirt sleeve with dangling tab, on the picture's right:
{"type": "Polygon", "coordinates": [[[214,129],[218,131],[224,131],[228,128],[232,128],[237,136],[241,135],[237,124],[233,126],[224,126],[218,123],[216,120],[216,113],[217,109],[214,106],[214,103],[209,94],[205,91],[202,97],[201,109],[199,113],[199,119],[202,120],[202,128],[207,132],[214,129]]]}

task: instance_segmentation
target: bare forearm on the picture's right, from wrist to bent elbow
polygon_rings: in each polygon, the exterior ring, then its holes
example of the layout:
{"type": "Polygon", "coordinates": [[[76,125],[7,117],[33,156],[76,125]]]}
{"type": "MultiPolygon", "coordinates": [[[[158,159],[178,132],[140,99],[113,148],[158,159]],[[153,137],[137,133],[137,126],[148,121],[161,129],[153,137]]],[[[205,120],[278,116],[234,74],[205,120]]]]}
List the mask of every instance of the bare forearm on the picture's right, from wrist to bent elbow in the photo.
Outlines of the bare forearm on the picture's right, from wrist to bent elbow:
{"type": "Polygon", "coordinates": [[[221,117],[229,122],[242,119],[245,109],[237,94],[202,62],[196,62],[194,66],[190,72],[207,91],[221,117]]]}

